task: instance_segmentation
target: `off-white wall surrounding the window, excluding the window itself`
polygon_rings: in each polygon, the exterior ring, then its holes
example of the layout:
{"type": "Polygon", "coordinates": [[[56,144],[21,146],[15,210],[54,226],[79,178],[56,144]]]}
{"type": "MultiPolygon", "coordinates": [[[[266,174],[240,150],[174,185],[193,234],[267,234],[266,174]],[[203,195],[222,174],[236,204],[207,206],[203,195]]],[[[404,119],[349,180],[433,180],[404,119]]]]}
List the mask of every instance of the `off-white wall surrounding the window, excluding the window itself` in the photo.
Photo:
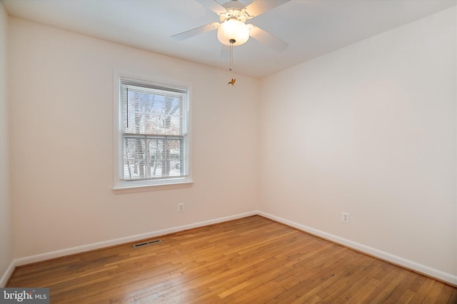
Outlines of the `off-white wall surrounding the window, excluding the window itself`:
{"type": "Polygon", "coordinates": [[[258,80],[21,19],[9,35],[15,258],[257,209],[258,80]],[[191,188],[111,190],[114,69],[191,84],[191,188]]]}

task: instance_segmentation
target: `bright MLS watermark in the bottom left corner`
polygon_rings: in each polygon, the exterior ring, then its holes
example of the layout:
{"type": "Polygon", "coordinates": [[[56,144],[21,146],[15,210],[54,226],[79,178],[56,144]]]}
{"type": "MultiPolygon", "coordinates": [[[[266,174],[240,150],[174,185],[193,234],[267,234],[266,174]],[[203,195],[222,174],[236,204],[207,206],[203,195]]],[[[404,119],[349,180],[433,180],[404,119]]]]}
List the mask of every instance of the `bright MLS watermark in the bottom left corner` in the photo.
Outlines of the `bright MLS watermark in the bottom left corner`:
{"type": "Polygon", "coordinates": [[[0,288],[0,303],[49,304],[49,288],[0,288]]]}

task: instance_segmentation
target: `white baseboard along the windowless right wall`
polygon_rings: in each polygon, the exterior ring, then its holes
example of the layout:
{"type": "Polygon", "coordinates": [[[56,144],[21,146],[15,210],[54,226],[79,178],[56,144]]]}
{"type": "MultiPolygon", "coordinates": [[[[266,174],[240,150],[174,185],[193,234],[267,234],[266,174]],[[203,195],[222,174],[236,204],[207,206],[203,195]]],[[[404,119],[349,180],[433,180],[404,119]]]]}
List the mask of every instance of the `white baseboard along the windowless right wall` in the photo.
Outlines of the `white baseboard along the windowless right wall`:
{"type": "Polygon", "coordinates": [[[422,265],[411,260],[406,260],[405,258],[398,257],[396,255],[392,255],[390,253],[386,253],[384,251],[378,250],[376,248],[371,248],[369,246],[353,242],[352,240],[346,240],[345,238],[340,238],[339,236],[332,235],[330,233],[323,232],[321,230],[317,230],[308,226],[304,226],[292,221],[288,221],[284,218],[279,218],[278,216],[272,216],[271,214],[264,213],[258,211],[257,213],[259,216],[263,216],[265,218],[269,218],[273,221],[277,221],[279,223],[283,223],[287,226],[291,226],[293,228],[297,228],[298,230],[305,231],[306,233],[310,233],[312,235],[316,235],[320,238],[324,238],[326,240],[331,240],[334,243],[338,243],[340,245],[344,245],[348,248],[352,248],[354,250],[361,251],[362,253],[366,253],[368,255],[372,255],[376,258],[380,258],[381,260],[386,260],[390,263],[399,265],[403,268],[408,268],[410,270],[416,271],[417,273],[421,273],[423,275],[427,275],[431,278],[436,278],[446,283],[450,283],[452,285],[457,285],[457,275],[451,275],[451,273],[445,273],[441,270],[437,270],[434,268],[430,268],[426,265],[422,265]]]}

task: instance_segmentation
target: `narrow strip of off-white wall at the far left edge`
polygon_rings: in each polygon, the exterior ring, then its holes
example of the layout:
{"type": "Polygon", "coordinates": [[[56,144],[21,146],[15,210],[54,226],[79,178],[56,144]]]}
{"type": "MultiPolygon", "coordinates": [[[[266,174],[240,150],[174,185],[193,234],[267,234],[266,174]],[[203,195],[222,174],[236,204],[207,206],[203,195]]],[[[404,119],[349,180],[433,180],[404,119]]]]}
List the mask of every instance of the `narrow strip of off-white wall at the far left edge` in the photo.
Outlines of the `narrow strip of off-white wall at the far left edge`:
{"type": "Polygon", "coordinates": [[[6,41],[8,14],[0,2],[0,286],[7,280],[13,262],[11,200],[9,196],[9,143],[6,81],[6,41]]]}

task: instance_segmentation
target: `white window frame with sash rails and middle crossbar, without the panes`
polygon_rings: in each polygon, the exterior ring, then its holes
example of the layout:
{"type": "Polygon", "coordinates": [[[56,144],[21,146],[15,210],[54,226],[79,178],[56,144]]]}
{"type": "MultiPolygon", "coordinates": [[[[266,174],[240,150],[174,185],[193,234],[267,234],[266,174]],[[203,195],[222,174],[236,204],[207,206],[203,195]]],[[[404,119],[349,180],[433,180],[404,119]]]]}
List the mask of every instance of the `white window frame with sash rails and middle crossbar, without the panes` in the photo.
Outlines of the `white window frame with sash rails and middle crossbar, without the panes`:
{"type": "MultiPolygon", "coordinates": [[[[194,183],[192,180],[192,161],[191,161],[191,86],[189,83],[179,83],[176,81],[157,81],[156,79],[151,79],[151,77],[132,75],[127,73],[119,73],[119,71],[114,71],[113,73],[113,83],[114,83],[114,113],[113,113],[113,190],[116,192],[127,191],[127,192],[136,192],[136,191],[154,191],[170,188],[184,188],[189,187],[194,183]],[[187,164],[187,175],[186,176],[167,176],[165,178],[149,178],[141,179],[138,181],[124,181],[122,176],[124,170],[124,136],[143,136],[144,138],[173,138],[174,136],[169,135],[141,135],[141,134],[129,134],[124,133],[122,126],[122,111],[121,111],[121,80],[132,81],[137,84],[144,84],[144,86],[154,86],[158,88],[169,88],[171,91],[173,89],[179,89],[187,91],[187,132],[186,136],[176,136],[183,138],[184,155],[186,158],[185,162],[187,164]]],[[[145,139],[146,140],[146,139],[145,139]]]]}

